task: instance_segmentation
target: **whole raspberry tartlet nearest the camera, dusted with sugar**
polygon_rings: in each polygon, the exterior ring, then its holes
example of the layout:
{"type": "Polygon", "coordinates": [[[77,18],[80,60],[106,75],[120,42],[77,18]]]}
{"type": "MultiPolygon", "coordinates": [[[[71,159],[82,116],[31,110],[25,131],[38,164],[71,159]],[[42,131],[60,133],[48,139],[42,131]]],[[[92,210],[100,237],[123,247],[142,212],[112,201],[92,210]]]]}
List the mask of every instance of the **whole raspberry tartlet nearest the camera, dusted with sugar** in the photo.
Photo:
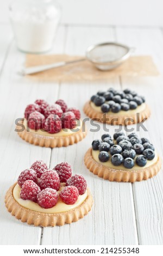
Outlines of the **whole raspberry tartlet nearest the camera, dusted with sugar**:
{"type": "Polygon", "coordinates": [[[46,163],[36,161],[21,172],[5,196],[5,205],[13,216],[42,227],[76,222],[88,214],[92,204],[85,178],[72,176],[66,162],[48,169],[46,163]]]}

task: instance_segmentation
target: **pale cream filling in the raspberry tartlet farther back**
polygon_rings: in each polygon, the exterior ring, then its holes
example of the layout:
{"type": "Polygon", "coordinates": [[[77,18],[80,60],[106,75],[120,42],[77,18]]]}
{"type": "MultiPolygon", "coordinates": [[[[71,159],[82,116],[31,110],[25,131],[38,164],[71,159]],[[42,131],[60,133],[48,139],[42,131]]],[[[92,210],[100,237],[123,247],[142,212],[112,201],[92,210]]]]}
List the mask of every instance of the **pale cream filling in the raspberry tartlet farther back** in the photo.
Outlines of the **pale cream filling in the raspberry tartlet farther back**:
{"type": "Polygon", "coordinates": [[[37,131],[33,130],[33,129],[29,129],[29,127],[27,126],[27,119],[24,119],[24,127],[26,128],[26,130],[28,130],[28,132],[32,132],[35,135],[41,135],[41,136],[47,136],[47,137],[61,137],[61,136],[68,136],[73,134],[74,132],[78,132],[82,129],[82,120],[77,120],[77,125],[76,127],[74,127],[74,129],[62,129],[60,132],[58,133],[48,133],[43,129],[39,129],[37,131]]]}

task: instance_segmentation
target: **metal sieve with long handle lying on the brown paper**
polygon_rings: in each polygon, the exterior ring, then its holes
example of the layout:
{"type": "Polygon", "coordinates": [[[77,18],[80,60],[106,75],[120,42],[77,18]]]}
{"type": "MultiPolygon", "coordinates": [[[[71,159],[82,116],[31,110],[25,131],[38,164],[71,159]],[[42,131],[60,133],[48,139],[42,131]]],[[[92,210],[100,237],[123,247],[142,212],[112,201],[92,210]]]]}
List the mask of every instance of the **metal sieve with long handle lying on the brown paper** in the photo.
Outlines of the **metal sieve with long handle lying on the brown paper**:
{"type": "Polygon", "coordinates": [[[129,48],[126,45],[118,44],[117,42],[103,42],[102,44],[91,45],[86,50],[86,57],[69,62],[58,62],[47,65],[32,66],[19,71],[21,75],[30,75],[48,69],[59,68],[72,63],[89,60],[99,70],[112,70],[121,65],[129,58],[134,48],[129,48]]]}

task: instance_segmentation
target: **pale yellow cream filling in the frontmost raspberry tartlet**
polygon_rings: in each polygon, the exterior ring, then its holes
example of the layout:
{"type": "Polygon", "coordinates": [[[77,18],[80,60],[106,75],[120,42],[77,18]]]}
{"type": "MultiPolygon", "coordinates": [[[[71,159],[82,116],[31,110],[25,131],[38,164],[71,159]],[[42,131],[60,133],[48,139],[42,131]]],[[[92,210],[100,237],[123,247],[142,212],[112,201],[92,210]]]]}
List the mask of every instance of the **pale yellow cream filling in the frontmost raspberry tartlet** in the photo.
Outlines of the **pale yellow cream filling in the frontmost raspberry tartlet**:
{"type": "MultiPolygon", "coordinates": [[[[63,188],[64,186],[61,186],[59,192],[63,188]]],[[[79,195],[77,202],[74,204],[65,204],[64,202],[62,202],[62,200],[59,197],[58,202],[55,206],[49,209],[45,209],[45,208],[42,208],[39,204],[34,203],[33,201],[21,199],[20,192],[21,192],[21,187],[18,184],[16,184],[13,190],[13,197],[18,204],[20,204],[21,206],[29,210],[43,212],[45,214],[59,214],[60,212],[73,210],[74,208],[77,208],[79,205],[81,205],[87,198],[87,190],[86,190],[84,194],[79,195]]]]}

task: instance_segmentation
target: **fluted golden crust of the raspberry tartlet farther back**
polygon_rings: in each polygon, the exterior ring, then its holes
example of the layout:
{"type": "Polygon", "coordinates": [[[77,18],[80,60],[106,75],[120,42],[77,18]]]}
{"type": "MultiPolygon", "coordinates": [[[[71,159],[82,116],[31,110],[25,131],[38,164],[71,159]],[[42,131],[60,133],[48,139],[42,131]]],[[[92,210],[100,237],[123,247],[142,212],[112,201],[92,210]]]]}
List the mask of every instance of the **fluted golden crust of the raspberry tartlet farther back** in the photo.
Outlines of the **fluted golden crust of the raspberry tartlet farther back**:
{"type": "MultiPolygon", "coordinates": [[[[23,120],[20,121],[20,124],[23,124],[23,120]]],[[[86,136],[86,129],[85,131],[80,129],[77,132],[71,133],[71,135],[58,137],[52,137],[50,134],[49,136],[42,136],[35,134],[34,132],[27,132],[26,129],[24,129],[24,131],[19,132],[18,129],[20,129],[20,126],[16,126],[16,130],[18,135],[22,139],[24,139],[24,141],[29,142],[30,144],[39,145],[40,147],[46,148],[67,147],[68,145],[73,145],[74,143],[82,141],[82,139],[84,139],[86,136]]]]}

